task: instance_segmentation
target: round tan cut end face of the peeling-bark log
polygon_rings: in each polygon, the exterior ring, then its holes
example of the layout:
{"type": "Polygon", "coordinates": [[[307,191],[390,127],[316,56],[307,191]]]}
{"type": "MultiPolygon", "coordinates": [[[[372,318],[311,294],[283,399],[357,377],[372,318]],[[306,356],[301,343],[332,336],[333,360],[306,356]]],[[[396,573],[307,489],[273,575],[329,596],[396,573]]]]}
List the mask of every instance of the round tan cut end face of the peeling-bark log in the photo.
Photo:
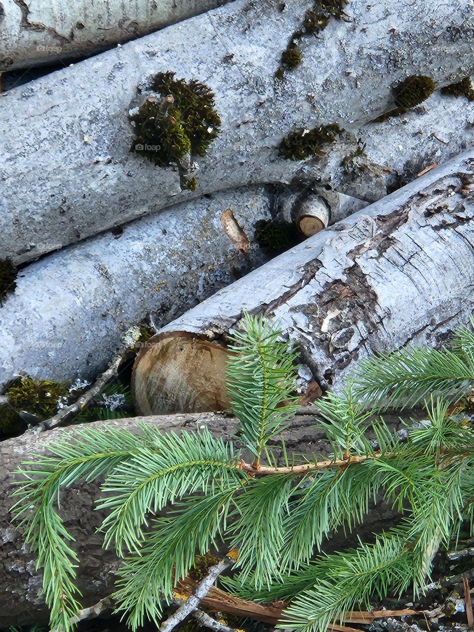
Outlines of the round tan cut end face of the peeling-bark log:
{"type": "Polygon", "coordinates": [[[133,367],[132,389],[140,415],[227,410],[229,351],[190,332],[150,338],[133,367]]]}

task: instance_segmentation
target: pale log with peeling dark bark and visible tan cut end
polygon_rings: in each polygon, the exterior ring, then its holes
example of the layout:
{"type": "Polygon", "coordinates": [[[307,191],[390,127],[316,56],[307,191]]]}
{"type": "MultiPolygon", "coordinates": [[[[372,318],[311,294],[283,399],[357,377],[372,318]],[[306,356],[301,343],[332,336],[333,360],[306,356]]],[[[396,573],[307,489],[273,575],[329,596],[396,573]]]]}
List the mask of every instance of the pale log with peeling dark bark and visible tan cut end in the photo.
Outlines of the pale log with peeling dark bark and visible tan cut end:
{"type": "Polygon", "coordinates": [[[473,251],[471,149],[163,327],[135,361],[138,410],[225,408],[222,356],[243,312],[295,341],[303,391],[337,388],[375,351],[439,344],[473,310],[473,251]]]}

